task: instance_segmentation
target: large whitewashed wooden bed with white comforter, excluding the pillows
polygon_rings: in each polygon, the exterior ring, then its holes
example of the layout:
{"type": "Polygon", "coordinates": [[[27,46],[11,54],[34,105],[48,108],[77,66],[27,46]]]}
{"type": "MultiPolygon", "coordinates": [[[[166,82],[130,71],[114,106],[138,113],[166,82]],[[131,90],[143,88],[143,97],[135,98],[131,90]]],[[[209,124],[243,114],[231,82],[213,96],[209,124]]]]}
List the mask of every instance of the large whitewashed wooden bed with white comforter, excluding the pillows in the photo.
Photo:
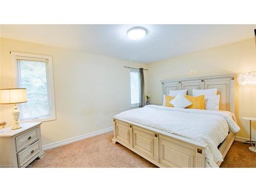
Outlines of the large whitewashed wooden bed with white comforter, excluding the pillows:
{"type": "Polygon", "coordinates": [[[159,167],[218,167],[234,133],[235,75],[165,80],[169,90],[217,88],[220,110],[195,110],[147,105],[113,117],[113,143],[120,143],[159,167]],[[214,127],[214,128],[212,128],[214,127]]]}

